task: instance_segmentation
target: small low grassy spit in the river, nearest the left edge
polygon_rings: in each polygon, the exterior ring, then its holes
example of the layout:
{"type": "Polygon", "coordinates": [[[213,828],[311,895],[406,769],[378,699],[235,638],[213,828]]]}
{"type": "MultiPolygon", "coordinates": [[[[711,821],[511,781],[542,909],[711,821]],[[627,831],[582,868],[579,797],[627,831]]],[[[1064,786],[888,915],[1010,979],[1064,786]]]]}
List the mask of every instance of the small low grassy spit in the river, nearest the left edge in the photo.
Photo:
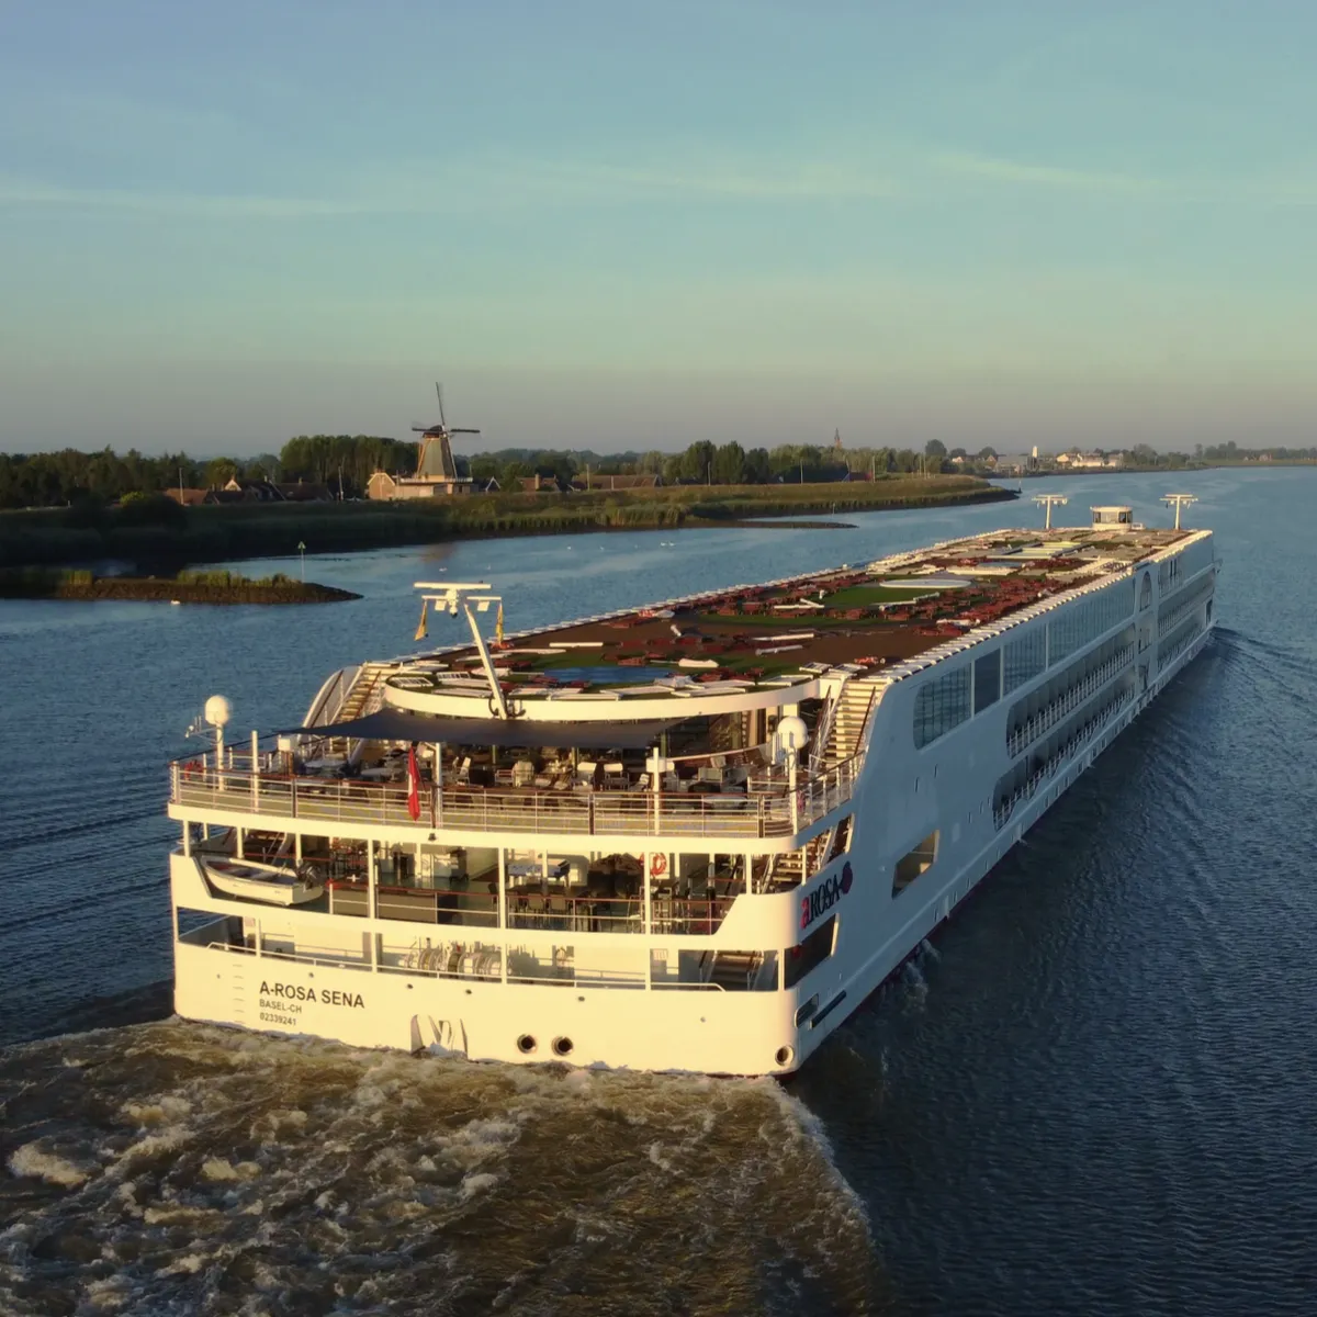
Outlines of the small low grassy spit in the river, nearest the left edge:
{"type": "Polygon", "coordinates": [[[282,573],[252,579],[237,572],[179,572],[175,577],[100,577],[87,569],[0,568],[0,599],[151,603],[337,603],[360,594],[294,581],[282,573]]]}

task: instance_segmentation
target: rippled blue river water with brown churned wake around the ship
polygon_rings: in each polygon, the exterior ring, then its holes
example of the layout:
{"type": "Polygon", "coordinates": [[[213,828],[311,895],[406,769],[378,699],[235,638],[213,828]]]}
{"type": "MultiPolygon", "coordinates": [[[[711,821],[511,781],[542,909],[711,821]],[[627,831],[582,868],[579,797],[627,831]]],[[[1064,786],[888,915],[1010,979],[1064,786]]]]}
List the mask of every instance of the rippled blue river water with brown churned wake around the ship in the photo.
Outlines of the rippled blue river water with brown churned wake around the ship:
{"type": "Polygon", "coordinates": [[[212,693],[240,735],[410,651],[416,579],[515,630],[1027,502],[312,556],[363,595],[320,607],[0,602],[0,1312],[1317,1310],[1317,471],[1175,487],[1213,645],[786,1087],[165,1018],[165,761],[212,693]]]}

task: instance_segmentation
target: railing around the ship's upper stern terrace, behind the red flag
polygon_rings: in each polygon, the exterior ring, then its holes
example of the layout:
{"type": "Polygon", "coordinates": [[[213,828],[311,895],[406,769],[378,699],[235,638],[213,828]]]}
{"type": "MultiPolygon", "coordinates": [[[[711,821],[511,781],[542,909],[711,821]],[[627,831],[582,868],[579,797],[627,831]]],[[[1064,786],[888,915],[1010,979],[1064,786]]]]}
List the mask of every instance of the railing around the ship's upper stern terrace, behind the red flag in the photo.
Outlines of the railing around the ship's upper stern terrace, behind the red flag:
{"type": "Polygon", "coordinates": [[[798,782],[794,793],[623,790],[544,792],[423,784],[412,818],[406,786],[324,777],[288,777],[192,760],[173,765],[171,803],[216,814],[262,814],[340,824],[643,836],[793,836],[846,803],[863,755],[798,782]]]}

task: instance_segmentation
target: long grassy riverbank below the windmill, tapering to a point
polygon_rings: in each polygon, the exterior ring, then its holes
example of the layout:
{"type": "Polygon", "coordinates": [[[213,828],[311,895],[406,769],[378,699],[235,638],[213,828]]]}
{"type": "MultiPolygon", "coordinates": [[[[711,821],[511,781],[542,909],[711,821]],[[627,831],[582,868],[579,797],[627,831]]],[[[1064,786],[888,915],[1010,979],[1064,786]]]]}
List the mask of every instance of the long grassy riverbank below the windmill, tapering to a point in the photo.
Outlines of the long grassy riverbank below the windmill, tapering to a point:
{"type": "MultiPolygon", "coordinates": [[[[674,486],[572,494],[466,494],[406,502],[233,503],[180,507],[163,495],[120,507],[74,504],[0,512],[0,568],[105,560],[140,572],[299,552],[436,544],[514,535],[684,529],[769,518],[948,507],[1014,499],[968,475],[892,475],[805,485],[674,486]]],[[[832,523],[836,524],[836,523],[832,523]]],[[[107,578],[100,578],[107,579],[107,578]]]]}

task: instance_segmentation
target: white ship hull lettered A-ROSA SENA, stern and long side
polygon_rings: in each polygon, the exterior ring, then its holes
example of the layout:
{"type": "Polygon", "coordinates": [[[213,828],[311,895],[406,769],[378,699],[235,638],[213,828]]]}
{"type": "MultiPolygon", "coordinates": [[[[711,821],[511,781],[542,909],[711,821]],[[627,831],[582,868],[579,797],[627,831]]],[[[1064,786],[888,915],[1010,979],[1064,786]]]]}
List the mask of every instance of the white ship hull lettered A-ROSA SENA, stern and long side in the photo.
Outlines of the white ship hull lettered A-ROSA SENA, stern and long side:
{"type": "MultiPolygon", "coordinates": [[[[204,861],[184,844],[170,860],[176,918],[187,911],[190,922],[186,931],[176,925],[175,1009],[217,1025],[470,1060],[789,1075],[1208,644],[1216,562],[1210,536],[1197,543],[1193,562],[1181,564],[1187,570],[1171,577],[1169,589],[1163,581],[1154,591],[1155,568],[1141,566],[1109,595],[1079,591],[977,647],[954,645],[885,678],[867,714],[853,790],[781,844],[753,843],[761,855],[795,847],[807,857],[826,842],[817,868],[802,869],[795,888],[738,897],[709,936],[690,928],[664,935],[651,915],[630,931],[585,932],[560,922],[562,931],[532,932],[510,921],[487,930],[421,926],[383,918],[374,906],[354,911],[358,918],[253,911],[216,897],[203,880],[204,861]],[[1043,637],[1044,657],[1036,670],[1013,676],[1011,647],[1029,652],[1030,636],[1043,637]],[[977,672],[994,652],[996,668],[981,669],[996,672],[994,685],[967,677],[968,710],[930,719],[930,684],[977,672]],[[407,942],[403,952],[389,951],[407,942]],[[755,952],[745,981],[719,977],[719,959],[735,964],[751,956],[736,950],[744,947],[769,950],[755,952]],[[570,972],[545,981],[560,956],[570,972]],[[701,981],[673,971],[709,957],[714,973],[701,981]]],[[[207,817],[236,828],[287,826],[279,817],[207,817]]],[[[407,826],[357,831],[375,847],[392,844],[407,826]]],[[[474,835],[436,831],[429,842],[437,846],[474,844],[474,835]]],[[[535,840],[545,856],[585,844],[566,835],[535,840]]],[[[664,844],[732,846],[652,835],[589,840],[595,849],[641,856],[664,844]]],[[[669,859],[676,869],[677,851],[669,859]]]]}

